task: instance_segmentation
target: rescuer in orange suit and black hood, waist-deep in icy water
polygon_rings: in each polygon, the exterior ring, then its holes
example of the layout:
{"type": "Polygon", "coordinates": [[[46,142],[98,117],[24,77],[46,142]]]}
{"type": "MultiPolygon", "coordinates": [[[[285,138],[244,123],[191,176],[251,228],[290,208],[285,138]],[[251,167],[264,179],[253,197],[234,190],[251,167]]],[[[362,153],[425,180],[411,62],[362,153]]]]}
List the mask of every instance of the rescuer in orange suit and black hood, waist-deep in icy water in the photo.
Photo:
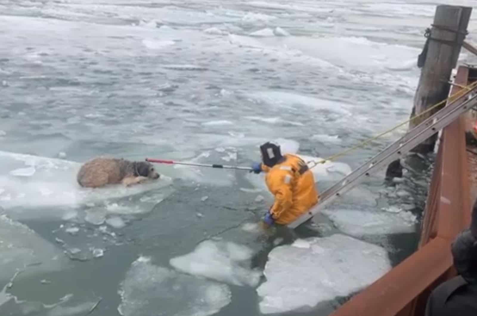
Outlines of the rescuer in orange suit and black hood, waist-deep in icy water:
{"type": "Polygon", "coordinates": [[[267,142],[260,146],[261,163],[253,163],[252,171],[265,172],[265,182],[275,197],[263,218],[267,226],[287,225],[318,202],[313,173],[299,157],[281,155],[280,146],[267,142]]]}

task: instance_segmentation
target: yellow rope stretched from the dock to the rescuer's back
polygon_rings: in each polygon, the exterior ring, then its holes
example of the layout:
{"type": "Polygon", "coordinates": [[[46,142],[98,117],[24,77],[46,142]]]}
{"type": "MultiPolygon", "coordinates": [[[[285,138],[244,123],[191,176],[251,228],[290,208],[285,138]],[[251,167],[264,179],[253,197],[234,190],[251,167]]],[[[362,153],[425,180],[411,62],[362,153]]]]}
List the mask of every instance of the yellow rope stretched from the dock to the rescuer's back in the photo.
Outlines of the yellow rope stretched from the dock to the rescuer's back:
{"type": "MultiPolygon", "coordinates": [[[[456,85],[456,84],[455,84],[455,85],[456,85]]],[[[378,134],[378,135],[376,135],[376,136],[374,136],[374,137],[370,137],[370,138],[368,138],[368,139],[365,139],[365,140],[363,140],[362,142],[360,142],[359,144],[357,144],[357,145],[355,145],[355,146],[353,146],[353,147],[350,147],[350,148],[348,148],[348,149],[345,149],[345,150],[343,150],[342,152],[339,152],[339,153],[337,153],[337,154],[334,154],[334,155],[332,155],[332,156],[330,156],[330,157],[328,157],[328,158],[322,159],[322,160],[320,160],[320,161],[309,161],[308,163],[310,163],[310,162],[313,162],[313,163],[314,163],[314,165],[311,166],[310,169],[316,167],[316,166],[319,165],[319,164],[324,164],[326,161],[334,160],[334,159],[336,159],[336,158],[338,158],[338,157],[342,157],[342,156],[346,155],[347,153],[349,153],[349,152],[351,152],[351,151],[353,151],[353,150],[356,150],[356,149],[358,149],[358,148],[364,147],[364,146],[366,146],[367,144],[371,143],[373,140],[376,140],[376,139],[378,139],[379,137],[382,137],[382,136],[384,136],[384,135],[386,135],[386,134],[389,134],[389,133],[391,133],[392,131],[396,130],[397,128],[403,126],[404,124],[407,124],[407,123],[411,122],[411,121],[414,120],[415,118],[417,118],[417,117],[419,117],[419,116],[423,116],[424,114],[426,114],[426,113],[428,113],[428,112],[434,110],[436,107],[438,107],[438,106],[440,106],[440,105],[443,105],[444,103],[446,103],[447,100],[456,99],[456,98],[458,98],[458,97],[460,97],[460,96],[466,94],[468,91],[472,90],[473,88],[475,88],[475,87],[477,86],[477,81],[474,82],[474,83],[472,83],[472,84],[469,84],[469,85],[467,85],[467,86],[461,86],[461,85],[459,85],[459,86],[462,87],[462,90],[459,90],[459,91],[456,92],[455,94],[448,96],[446,99],[444,99],[444,100],[442,100],[441,102],[439,102],[439,103],[437,103],[437,104],[435,104],[435,105],[429,107],[428,109],[426,109],[425,111],[421,112],[420,114],[417,114],[417,115],[411,117],[410,119],[408,119],[408,120],[406,120],[406,121],[404,121],[404,122],[402,122],[402,123],[400,123],[400,124],[398,124],[398,125],[396,125],[396,126],[390,128],[390,129],[388,129],[388,130],[386,130],[386,131],[384,131],[384,132],[382,132],[381,134],[378,134]]],[[[453,101],[453,100],[451,100],[451,102],[452,102],[452,101],[453,101]]]]}

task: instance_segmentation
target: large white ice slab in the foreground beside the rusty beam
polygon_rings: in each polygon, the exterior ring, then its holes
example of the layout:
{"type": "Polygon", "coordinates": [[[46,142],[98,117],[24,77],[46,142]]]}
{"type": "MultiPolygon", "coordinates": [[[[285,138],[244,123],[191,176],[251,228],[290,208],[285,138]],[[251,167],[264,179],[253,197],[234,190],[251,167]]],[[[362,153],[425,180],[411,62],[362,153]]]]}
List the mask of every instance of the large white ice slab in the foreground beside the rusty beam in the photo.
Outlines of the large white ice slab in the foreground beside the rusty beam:
{"type": "Polygon", "coordinates": [[[349,236],[308,238],[308,248],[274,248],[257,288],[263,314],[311,308],[373,283],[391,265],[386,251],[349,236]]]}

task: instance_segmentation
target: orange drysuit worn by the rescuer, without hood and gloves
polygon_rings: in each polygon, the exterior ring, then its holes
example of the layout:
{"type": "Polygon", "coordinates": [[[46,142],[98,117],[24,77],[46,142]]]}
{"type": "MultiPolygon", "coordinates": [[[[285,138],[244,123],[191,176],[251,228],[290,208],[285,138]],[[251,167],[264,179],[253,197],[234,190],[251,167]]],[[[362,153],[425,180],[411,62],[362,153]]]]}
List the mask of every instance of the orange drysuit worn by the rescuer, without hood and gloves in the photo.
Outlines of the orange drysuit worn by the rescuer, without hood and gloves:
{"type": "Polygon", "coordinates": [[[313,173],[299,157],[285,154],[273,167],[261,164],[265,182],[275,201],[270,214],[277,224],[289,224],[318,202],[313,173]]]}

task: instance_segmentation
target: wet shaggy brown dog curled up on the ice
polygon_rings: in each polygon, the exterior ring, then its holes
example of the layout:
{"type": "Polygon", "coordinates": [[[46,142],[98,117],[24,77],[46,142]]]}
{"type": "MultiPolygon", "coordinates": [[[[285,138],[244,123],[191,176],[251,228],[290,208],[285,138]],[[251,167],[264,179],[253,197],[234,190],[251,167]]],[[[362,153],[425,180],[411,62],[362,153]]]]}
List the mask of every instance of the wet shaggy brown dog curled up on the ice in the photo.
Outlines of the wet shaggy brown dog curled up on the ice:
{"type": "Polygon", "coordinates": [[[119,183],[129,187],[147,179],[159,178],[160,175],[149,162],[105,157],[87,161],[76,176],[78,184],[84,188],[99,188],[119,183]]]}

